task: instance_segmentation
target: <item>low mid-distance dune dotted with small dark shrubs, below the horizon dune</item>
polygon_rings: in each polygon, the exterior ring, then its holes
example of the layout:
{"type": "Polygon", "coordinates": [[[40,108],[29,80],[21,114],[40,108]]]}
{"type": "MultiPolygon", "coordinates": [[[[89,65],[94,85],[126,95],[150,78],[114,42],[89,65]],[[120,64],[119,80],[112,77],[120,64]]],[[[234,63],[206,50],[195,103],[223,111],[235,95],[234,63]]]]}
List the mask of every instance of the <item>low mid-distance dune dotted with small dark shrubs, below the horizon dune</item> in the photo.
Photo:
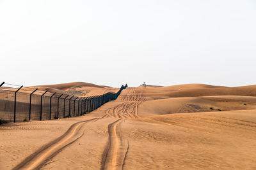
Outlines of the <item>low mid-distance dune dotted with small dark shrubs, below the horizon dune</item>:
{"type": "Polygon", "coordinates": [[[170,113],[193,113],[205,111],[253,110],[254,96],[204,96],[175,97],[146,101],[140,105],[140,114],[164,115],[170,113]]]}

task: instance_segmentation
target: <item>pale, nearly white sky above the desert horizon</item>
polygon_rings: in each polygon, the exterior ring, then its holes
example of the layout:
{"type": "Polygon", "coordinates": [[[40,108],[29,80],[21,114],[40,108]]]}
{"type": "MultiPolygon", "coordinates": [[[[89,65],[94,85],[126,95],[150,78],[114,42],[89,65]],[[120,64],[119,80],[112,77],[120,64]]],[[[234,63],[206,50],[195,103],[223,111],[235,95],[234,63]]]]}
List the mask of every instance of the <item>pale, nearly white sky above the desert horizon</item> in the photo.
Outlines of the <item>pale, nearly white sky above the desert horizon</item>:
{"type": "Polygon", "coordinates": [[[0,0],[0,81],[256,84],[255,0],[0,0]]]}

